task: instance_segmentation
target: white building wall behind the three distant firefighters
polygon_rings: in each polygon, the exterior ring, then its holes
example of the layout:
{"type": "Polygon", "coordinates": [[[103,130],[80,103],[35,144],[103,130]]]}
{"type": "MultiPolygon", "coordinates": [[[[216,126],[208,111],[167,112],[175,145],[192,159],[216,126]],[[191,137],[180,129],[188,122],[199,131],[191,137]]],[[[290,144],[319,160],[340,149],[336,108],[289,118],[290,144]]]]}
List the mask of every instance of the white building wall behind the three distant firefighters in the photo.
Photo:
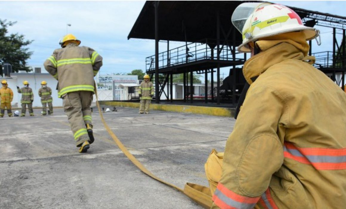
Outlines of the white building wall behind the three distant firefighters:
{"type": "Polygon", "coordinates": [[[57,80],[55,80],[48,73],[12,73],[11,77],[4,78],[8,82],[8,86],[13,91],[13,101],[12,106],[21,107],[20,99],[21,94],[17,92],[17,87],[24,87],[23,81],[27,80],[29,82],[29,87],[33,89],[34,93],[34,102],[33,107],[42,107],[41,97],[38,96],[38,89],[41,88],[41,81],[45,80],[47,82],[47,86],[52,89],[52,97],[53,97],[53,107],[63,105],[63,100],[58,98],[58,92],[56,90],[57,80]]]}

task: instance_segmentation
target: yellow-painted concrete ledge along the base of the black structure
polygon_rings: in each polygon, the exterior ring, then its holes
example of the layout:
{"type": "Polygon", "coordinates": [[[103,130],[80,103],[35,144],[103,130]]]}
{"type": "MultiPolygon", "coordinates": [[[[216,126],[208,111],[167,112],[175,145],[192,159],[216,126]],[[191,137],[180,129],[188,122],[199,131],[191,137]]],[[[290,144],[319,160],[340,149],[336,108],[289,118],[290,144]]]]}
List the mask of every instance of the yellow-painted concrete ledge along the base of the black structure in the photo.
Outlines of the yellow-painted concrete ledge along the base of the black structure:
{"type": "MultiPolygon", "coordinates": [[[[135,103],[135,102],[99,101],[99,103],[101,105],[139,108],[139,103],[135,103]]],[[[215,115],[215,116],[224,116],[224,117],[234,117],[234,112],[235,112],[234,108],[204,107],[204,106],[192,106],[192,105],[173,105],[173,104],[151,104],[150,110],[215,115]]]]}

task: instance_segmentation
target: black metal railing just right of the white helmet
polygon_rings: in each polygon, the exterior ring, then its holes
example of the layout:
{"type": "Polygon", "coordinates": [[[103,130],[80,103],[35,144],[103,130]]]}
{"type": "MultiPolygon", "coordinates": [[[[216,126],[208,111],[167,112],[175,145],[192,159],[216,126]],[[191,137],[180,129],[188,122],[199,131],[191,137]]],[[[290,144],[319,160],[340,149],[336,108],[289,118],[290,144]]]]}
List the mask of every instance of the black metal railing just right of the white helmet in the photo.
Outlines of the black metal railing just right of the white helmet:
{"type": "Polygon", "coordinates": [[[313,64],[316,68],[342,68],[343,67],[343,59],[346,63],[346,58],[342,58],[340,56],[336,56],[335,61],[333,60],[333,52],[317,52],[312,53],[312,56],[315,56],[316,62],[313,64]]]}

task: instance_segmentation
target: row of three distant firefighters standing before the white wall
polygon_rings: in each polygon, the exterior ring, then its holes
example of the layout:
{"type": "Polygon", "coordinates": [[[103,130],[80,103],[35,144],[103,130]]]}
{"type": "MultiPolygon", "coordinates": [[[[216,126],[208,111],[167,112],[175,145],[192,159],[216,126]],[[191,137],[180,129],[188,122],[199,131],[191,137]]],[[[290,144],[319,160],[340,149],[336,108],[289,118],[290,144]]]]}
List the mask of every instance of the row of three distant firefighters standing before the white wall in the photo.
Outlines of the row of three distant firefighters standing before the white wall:
{"type": "MultiPolygon", "coordinates": [[[[1,81],[1,89],[0,89],[0,117],[3,117],[5,114],[5,109],[7,109],[7,114],[9,117],[12,117],[12,106],[11,102],[13,100],[13,92],[10,87],[8,87],[7,80],[1,81]]],[[[26,112],[26,106],[28,106],[29,115],[34,116],[33,111],[33,102],[34,102],[34,93],[33,90],[29,87],[29,82],[24,81],[23,82],[24,87],[19,88],[17,86],[17,91],[22,95],[21,97],[21,117],[25,116],[26,112]]],[[[48,104],[48,115],[53,114],[53,98],[52,98],[52,89],[47,86],[46,81],[41,82],[41,88],[38,90],[38,95],[41,97],[41,103],[42,103],[42,115],[47,115],[47,104],[48,104]]],[[[19,116],[15,113],[15,116],[19,116]]]]}

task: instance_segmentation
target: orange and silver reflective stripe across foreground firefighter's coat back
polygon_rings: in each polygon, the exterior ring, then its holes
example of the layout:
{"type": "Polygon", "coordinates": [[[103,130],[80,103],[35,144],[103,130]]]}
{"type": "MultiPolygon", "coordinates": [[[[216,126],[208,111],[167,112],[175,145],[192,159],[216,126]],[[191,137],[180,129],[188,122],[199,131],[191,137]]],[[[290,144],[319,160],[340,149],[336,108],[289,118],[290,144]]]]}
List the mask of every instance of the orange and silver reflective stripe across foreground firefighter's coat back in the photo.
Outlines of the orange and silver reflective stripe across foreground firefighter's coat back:
{"type": "Polygon", "coordinates": [[[284,157],[310,164],[318,170],[346,169],[346,148],[299,148],[285,142],[284,157]]]}

